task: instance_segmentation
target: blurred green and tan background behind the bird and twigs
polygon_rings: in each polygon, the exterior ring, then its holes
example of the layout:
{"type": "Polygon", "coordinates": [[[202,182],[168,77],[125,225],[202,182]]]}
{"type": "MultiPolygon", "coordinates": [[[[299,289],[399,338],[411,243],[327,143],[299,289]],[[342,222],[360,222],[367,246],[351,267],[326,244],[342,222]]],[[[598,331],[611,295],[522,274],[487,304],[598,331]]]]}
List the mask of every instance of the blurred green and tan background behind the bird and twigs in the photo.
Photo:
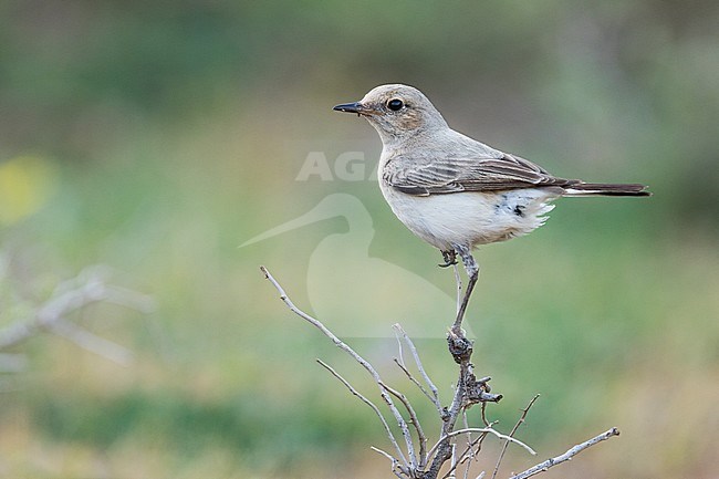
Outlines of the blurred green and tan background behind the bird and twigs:
{"type": "MultiPolygon", "coordinates": [[[[623,433],[544,477],[719,477],[717,24],[719,7],[702,0],[2,2],[3,291],[42,302],[101,263],[157,309],[75,317],[131,348],[128,367],[54,336],[24,345],[25,371],[3,375],[0,475],[390,477],[368,450],[387,447],[373,413],[314,358],[367,394],[371,381],[258,270],[312,312],[312,253],[348,220],[238,247],[346,192],[372,217],[365,256],[454,294],[439,254],[371,178],[375,132],[331,111],[402,82],[455,128],[556,175],[655,194],[562,200],[531,237],[478,252],[475,363],[506,395],[489,408],[498,427],[541,393],[520,437],[542,458],[623,433]],[[317,152],[330,177],[296,180],[317,152]],[[369,179],[341,178],[346,152],[364,155],[353,167],[369,179]]],[[[386,293],[327,290],[352,317],[416,301],[342,254],[319,261],[330,283],[386,293]]],[[[3,304],[3,323],[19,319],[3,304]]],[[[437,314],[417,344],[447,402],[451,311],[437,314]]],[[[348,341],[410,392],[392,364],[395,321],[386,337],[348,341]]],[[[484,467],[498,449],[487,444],[484,467]]],[[[510,451],[507,470],[535,462],[510,451]]]]}

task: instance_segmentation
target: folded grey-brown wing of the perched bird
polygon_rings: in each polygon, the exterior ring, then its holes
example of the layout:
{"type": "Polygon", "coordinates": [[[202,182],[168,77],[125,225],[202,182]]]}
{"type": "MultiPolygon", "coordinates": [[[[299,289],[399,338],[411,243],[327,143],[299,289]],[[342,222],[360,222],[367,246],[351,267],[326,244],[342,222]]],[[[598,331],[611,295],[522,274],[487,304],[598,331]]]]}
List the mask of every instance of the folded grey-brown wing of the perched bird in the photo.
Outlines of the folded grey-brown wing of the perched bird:
{"type": "Polygon", "coordinates": [[[499,158],[440,157],[424,162],[400,155],[387,162],[382,177],[397,190],[418,196],[569,186],[577,183],[556,178],[532,162],[509,154],[499,158]]]}

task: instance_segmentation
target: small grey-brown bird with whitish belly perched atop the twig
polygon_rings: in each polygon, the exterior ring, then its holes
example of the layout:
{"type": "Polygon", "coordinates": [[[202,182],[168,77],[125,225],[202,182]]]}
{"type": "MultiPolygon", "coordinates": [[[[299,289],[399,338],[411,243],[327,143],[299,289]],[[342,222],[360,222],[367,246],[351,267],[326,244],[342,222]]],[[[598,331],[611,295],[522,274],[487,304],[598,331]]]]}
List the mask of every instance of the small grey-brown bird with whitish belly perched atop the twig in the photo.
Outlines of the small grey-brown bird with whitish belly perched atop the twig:
{"type": "Polygon", "coordinates": [[[379,85],[362,100],[333,107],[364,117],[383,148],[379,188],[395,216],[439,249],[441,267],[462,261],[468,282],[451,332],[461,332],[479,278],[473,248],[528,235],[560,197],[649,196],[642,184],[585,183],[554,176],[518,155],[496,149],[447,124],[419,90],[379,85]]]}

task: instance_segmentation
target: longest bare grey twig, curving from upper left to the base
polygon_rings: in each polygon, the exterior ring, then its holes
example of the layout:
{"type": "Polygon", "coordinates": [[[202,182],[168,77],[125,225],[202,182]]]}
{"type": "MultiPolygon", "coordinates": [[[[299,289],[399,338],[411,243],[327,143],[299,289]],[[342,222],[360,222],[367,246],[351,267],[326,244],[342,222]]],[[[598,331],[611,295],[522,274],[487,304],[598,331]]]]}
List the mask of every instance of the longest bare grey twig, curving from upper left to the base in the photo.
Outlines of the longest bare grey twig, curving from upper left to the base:
{"type": "Polygon", "coordinates": [[[379,386],[379,395],[382,396],[383,400],[392,412],[392,414],[395,416],[395,419],[397,420],[397,424],[399,425],[399,429],[402,430],[402,435],[405,438],[405,444],[407,446],[407,455],[409,456],[409,465],[413,468],[417,467],[417,455],[415,452],[415,446],[411,441],[411,435],[409,434],[409,427],[407,426],[407,421],[405,420],[404,417],[402,417],[402,414],[399,413],[399,409],[397,409],[397,406],[395,406],[394,402],[389,397],[389,393],[387,392],[386,386],[384,385],[382,377],[379,376],[379,373],[369,364],[364,357],[362,357],[359,354],[357,354],[352,347],[350,347],[347,344],[345,344],[342,340],[340,340],[337,336],[334,335],[332,331],[330,331],[322,322],[315,320],[311,315],[306,314],[302,310],[300,310],[298,306],[294,305],[292,300],[288,296],[288,294],[284,292],[284,289],[280,285],[280,283],[270,274],[267,268],[260,267],[260,270],[264,273],[264,277],[272,283],[272,285],[278,290],[280,293],[280,299],[284,304],[292,311],[294,314],[298,316],[302,317],[316,329],[319,329],[325,336],[327,336],[337,347],[340,347],[342,351],[351,355],[357,363],[359,363],[368,373],[369,375],[375,379],[375,383],[379,386]]]}

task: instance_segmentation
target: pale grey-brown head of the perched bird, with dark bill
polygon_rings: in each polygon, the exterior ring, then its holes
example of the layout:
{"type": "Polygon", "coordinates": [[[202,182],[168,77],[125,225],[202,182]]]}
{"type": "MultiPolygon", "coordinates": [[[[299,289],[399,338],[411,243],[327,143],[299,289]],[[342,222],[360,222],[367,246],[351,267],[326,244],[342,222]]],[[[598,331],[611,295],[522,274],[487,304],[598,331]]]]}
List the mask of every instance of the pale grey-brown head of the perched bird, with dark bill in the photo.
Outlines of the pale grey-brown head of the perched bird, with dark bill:
{"type": "Polygon", "coordinates": [[[337,105],[333,110],[364,116],[385,144],[448,127],[435,105],[419,90],[400,84],[377,86],[361,101],[337,105]]]}

